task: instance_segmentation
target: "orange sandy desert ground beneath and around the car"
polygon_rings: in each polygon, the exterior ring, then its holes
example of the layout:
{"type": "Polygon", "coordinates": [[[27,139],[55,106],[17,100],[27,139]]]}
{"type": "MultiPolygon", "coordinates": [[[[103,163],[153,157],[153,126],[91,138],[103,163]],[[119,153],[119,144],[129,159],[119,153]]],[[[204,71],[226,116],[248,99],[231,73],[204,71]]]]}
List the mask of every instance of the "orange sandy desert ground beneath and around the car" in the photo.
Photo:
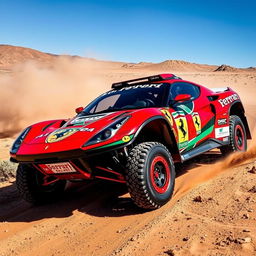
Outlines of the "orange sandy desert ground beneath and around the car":
{"type": "MultiPolygon", "coordinates": [[[[104,79],[155,73],[116,68],[104,79]]],[[[211,88],[235,89],[253,129],[255,73],[176,73],[211,88]]],[[[11,141],[0,140],[0,159],[8,158],[11,141]]],[[[151,212],[136,208],[111,183],[73,185],[59,202],[34,208],[19,198],[14,181],[2,183],[0,255],[256,255],[255,159],[219,175],[216,161],[223,161],[217,150],[186,163],[177,171],[173,199],[151,212]]]]}

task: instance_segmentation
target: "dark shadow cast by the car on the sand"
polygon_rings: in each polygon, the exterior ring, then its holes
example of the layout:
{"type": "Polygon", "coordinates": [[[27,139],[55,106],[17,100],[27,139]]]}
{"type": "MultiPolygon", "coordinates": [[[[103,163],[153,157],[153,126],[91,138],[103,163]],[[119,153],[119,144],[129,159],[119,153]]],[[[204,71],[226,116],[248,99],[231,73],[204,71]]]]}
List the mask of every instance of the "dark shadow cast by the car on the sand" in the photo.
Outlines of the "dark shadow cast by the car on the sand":
{"type": "MultiPolygon", "coordinates": [[[[212,164],[222,158],[217,152],[200,155],[182,166],[176,166],[177,176],[201,165],[212,164]]],[[[59,201],[41,206],[31,206],[18,194],[15,182],[0,188],[0,221],[31,222],[47,218],[64,218],[79,211],[97,217],[138,215],[138,208],[123,184],[104,181],[69,184],[59,201]]]]}

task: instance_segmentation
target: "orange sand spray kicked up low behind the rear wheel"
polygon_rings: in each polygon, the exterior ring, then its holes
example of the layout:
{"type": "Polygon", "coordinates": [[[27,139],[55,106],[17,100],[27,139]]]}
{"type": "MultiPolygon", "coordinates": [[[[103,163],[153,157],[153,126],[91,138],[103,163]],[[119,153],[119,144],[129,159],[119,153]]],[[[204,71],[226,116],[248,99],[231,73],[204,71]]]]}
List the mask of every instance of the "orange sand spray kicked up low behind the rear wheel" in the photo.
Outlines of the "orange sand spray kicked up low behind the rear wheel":
{"type": "Polygon", "coordinates": [[[246,152],[233,153],[222,161],[209,166],[191,169],[186,174],[182,175],[182,181],[175,187],[175,197],[180,198],[192,188],[214,178],[220,173],[228,171],[247,161],[256,159],[256,129],[254,129],[253,135],[253,140],[246,152]]]}

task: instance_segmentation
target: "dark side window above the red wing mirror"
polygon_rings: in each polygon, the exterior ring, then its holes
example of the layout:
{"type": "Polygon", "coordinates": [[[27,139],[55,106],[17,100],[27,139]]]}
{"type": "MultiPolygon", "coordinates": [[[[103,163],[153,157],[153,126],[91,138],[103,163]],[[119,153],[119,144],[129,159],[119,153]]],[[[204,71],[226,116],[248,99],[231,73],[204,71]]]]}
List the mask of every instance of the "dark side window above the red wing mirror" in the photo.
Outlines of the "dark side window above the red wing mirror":
{"type": "Polygon", "coordinates": [[[170,90],[170,99],[175,99],[179,94],[189,94],[192,96],[192,100],[200,95],[199,87],[190,83],[174,83],[170,90]]]}

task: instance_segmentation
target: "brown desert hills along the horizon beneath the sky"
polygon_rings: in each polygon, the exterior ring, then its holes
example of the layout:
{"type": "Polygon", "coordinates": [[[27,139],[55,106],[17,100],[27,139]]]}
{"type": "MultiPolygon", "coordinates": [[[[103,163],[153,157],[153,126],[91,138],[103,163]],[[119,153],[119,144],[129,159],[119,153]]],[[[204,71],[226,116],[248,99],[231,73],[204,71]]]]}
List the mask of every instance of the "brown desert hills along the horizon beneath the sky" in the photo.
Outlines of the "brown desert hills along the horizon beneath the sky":
{"type": "Polygon", "coordinates": [[[121,68],[121,69],[137,69],[145,71],[156,71],[156,72],[240,72],[240,71],[256,71],[255,67],[250,68],[235,68],[228,65],[207,65],[191,63],[183,60],[166,60],[160,63],[152,62],[139,62],[139,63],[125,63],[115,61],[101,61],[89,58],[82,58],[80,56],[71,55],[56,55],[51,53],[40,52],[34,49],[12,46],[12,45],[0,45],[0,69],[10,70],[16,64],[22,64],[27,61],[33,60],[40,63],[51,64],[60,56],[70,58],[81,58],[87,61],[101,62],[110,68],[121,68]]]}

